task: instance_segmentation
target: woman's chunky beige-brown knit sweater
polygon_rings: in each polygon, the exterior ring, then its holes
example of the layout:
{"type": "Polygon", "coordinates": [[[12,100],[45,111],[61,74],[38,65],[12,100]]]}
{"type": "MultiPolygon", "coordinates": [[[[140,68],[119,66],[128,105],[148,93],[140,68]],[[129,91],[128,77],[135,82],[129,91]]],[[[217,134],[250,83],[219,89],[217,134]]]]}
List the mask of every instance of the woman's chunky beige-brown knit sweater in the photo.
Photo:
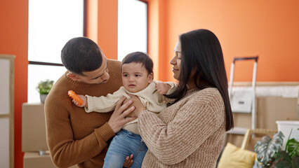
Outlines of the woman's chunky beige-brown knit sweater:
{"type": "Polygon", "coordinates": [[[215,167],[225,137],[225,106],[216,88],[189,90],[159,116],[141,111],[140,135],[149,148],[142,167],[215,167]]]}

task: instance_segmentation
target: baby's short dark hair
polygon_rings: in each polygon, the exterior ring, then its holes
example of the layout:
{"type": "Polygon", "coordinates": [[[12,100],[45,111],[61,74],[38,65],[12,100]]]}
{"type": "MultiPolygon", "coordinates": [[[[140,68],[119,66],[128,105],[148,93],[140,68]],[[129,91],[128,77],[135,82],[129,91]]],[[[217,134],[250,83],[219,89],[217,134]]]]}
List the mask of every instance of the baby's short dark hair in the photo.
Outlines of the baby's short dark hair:
{"type": "Polygon", "coordinates": [[[145,69],[147,69],[148,74],[153,73],[152,69],[154,67],[154,63],[152,62],[150,55],[147,55],[147,53],[131,52],[130,54],[126,55],[126,57],[124,57],[123,61],[121,62],[121,67],[124,64],[129,64],[131,62],[141,63],[142,66],[145,66],[145,69]]]}

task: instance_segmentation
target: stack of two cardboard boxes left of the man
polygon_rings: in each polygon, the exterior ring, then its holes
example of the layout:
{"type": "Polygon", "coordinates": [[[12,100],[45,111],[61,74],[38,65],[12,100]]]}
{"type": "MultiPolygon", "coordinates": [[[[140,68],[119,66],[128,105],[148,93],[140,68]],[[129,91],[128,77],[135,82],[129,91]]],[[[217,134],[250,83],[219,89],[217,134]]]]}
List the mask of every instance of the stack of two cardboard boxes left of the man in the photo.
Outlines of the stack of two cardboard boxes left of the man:
{"type": "Polygon", "coordinates": [[[39,152],[48,151],[44,104],[22,104],[22,151],[24,168],[55,168],[50,155],[39,152]]]}

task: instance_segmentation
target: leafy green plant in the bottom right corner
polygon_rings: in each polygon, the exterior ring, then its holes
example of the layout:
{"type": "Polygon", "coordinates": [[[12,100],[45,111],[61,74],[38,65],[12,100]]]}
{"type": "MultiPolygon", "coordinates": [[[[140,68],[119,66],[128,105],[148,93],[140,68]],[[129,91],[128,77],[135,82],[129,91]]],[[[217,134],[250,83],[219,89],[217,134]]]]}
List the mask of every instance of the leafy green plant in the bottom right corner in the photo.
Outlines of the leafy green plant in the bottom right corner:
{"type": "MultiPolygon", "coordinates": [[[[291,131],[292,133],[292,131],[291,131]]],[[[281,150],[284,134],[278,132],[270,137],[265,136],[255,144],[254,151],[257,153],[253,167],[278,167],[293,168],[299,167],[299,142],[290,139],[291,133],[286,142],[285,151],[281,150]]]]}

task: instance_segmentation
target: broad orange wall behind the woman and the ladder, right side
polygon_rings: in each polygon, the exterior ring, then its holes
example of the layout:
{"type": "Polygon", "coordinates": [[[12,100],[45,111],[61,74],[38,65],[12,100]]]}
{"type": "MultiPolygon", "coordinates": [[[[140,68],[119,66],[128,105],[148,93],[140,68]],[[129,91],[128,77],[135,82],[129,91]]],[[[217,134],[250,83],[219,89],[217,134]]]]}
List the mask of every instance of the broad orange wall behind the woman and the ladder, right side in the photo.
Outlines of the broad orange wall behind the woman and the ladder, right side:
{"type": "MultiPolygon", "coordinates": [[[[151,3],[152,0],[149,1],[151,3]]],[[[154,0],[156,1],[156,0],[154,0]]],[[[161,1],[160,1],[161,3],[161,1]]],[[[160,73],[173,80],[173,48],[178,35],[192,29],[210,29],[218,36],[227,76],[233,57],[259,55],[257,81],[299,81],[299,1],[164,0],[160,18],[160,73]],[[161,30],[164,29],[164,30],[161,30]],[[165,55],[161,55],[165,53],[165,55]],[[166,58],[165,58],[166,57],[166,58]]],[[[237,62],[234,81],[252,79],[253,62],[237,62]]]]}

